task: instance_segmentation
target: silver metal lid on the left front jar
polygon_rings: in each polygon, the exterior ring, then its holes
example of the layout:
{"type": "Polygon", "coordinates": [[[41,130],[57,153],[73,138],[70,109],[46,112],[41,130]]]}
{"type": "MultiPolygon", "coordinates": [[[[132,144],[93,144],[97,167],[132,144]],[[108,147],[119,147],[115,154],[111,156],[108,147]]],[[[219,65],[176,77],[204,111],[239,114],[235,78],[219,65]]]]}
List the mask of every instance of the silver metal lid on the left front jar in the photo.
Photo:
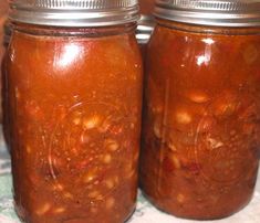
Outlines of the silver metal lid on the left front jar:
{"type": "Polygon", "coordinates": [[[53,26],[107,26],[136,22],[138,0],[10,0],[11,21],[53,26]]]}

